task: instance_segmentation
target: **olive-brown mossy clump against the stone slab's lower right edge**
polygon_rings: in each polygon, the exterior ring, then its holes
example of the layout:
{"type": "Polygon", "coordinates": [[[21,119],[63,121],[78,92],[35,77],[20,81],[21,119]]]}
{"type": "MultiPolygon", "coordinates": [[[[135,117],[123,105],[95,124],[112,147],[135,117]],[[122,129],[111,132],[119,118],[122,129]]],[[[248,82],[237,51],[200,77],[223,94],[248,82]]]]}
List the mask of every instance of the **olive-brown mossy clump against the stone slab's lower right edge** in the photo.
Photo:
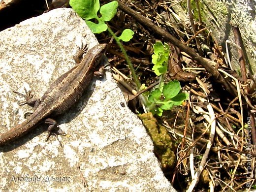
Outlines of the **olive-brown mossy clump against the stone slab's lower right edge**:
{"type": "Polygon", "coordinates": [[[175,162],[176,147],[165,127],[159,125],[152,113],[139,115],[154,143],[154,152],[163,168],[172,168],[175,162]]]}

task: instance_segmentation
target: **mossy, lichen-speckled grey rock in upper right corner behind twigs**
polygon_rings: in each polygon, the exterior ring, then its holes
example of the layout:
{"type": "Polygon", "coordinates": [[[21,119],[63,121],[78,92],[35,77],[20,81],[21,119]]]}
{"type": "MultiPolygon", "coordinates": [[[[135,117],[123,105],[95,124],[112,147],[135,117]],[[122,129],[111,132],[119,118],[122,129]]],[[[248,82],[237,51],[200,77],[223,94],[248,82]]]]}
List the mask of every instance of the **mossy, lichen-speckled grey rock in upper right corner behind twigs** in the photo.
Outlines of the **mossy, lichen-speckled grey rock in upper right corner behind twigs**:
{"type": "MultiPolygon", "coordinates": [[[[203,20],[217,41],[235,43],[232,26],[239,26],[251,67],[256,72],[256,1],[202,0],[203,20]]],[[[225,46],[224,46],[225,52],[225,46]]],[[[240,69],[237,48],[229,44],[232,66],[240,69]]]]}

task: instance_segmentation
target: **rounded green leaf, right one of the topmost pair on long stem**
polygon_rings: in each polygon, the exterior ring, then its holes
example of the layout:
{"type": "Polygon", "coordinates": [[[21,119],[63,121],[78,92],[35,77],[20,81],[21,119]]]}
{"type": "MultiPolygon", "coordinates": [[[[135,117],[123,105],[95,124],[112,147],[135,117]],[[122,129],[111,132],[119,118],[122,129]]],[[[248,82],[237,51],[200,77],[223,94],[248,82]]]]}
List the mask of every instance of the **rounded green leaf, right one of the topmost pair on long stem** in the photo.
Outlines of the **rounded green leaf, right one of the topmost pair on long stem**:
{"type": "Polygon", "coordinates": [[[118,2],[112,1],[100,7],[100,13],[104,21],[110,21],[117,13],[118,2]]]}

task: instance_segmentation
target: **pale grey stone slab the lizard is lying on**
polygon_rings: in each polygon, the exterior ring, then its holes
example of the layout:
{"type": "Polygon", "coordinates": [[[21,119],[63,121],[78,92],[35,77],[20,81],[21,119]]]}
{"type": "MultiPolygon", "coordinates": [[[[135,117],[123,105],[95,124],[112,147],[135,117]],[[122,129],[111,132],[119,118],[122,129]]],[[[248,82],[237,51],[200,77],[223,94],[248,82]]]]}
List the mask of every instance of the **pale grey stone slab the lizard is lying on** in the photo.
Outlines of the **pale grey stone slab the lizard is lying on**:
{"type": "MultiPolygon", "coordinates": [[[[0,133],[32,111],[18,106],[23,98],[11,91],[31,86],[42,96],[49,83],[74,66],[72,56],[81,42],[90,48],[97,43],[85,22],[65,8],[0,32],[0,122],[5,126],[0,133]]],[[[45,142],[46,127],[40,125],[0,147],[0,191],[175,191],[111,73],[93,82],[81,101],[57,119],[69,137],[45,142]]]]}

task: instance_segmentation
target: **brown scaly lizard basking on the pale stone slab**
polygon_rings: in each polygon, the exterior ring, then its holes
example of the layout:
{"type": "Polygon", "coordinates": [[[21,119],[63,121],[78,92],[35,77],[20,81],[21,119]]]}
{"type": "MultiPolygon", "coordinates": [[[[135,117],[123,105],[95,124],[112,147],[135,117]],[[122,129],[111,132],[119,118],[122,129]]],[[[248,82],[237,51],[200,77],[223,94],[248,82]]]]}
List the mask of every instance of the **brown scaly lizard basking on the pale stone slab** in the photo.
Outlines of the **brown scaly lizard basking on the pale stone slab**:
{"type": "Polygon", "coordinates": [[[86,53],[84,58],[82,56],[87,51],[87,46],[82,46],[75,57],[76,63],[79,64],[51,84],[40,100],[32,99],[27,94],[25,96],[26,101],[22,104],[31,105],[35,103],[34,112],[22,124],[0,134],[0,146],[26,134],[41,122],[50,125],[48,131],[49,133],[52,132],[57,127],[57,123],[49,117],[63,114],[82,96],[90,84],[95,67],[105,53],[106,46],[106,44],[94,46],[86,53]],[[32,100],[33,102],[31,102],[32,100]]]}

